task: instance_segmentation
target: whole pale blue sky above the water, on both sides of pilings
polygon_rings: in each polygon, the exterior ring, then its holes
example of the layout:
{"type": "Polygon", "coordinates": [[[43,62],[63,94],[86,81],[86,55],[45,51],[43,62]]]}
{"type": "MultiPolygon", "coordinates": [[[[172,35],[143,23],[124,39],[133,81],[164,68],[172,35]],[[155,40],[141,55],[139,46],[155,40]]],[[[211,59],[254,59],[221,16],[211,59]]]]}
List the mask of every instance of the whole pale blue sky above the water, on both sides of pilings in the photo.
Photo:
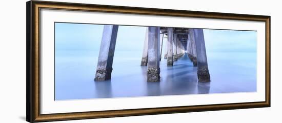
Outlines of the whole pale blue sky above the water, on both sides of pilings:
{"type": "MultiPolygon", "coordinates": [[[[119,26],[115,50],[142,52],[145,32],[146,27],[119,26]]],[[[56,51],[99,51],[102,33],[103,25],[56,23],[56,51]]],[[[256,31],[204,29],[204,38],[207,52],[256,52],[256,31]]]]}

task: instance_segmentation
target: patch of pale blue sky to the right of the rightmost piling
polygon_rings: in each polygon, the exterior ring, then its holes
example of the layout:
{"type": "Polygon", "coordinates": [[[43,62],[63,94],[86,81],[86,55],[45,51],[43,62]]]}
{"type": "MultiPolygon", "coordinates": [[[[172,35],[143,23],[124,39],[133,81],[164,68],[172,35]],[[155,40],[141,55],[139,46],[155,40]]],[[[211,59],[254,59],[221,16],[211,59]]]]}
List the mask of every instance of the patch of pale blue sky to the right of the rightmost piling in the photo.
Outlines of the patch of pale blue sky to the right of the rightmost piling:
{"type": "Polygon", "coordinates": [[[256,31],[205,29],[206,49],[218,52],[255,52],[256,33],[256,31]]]}

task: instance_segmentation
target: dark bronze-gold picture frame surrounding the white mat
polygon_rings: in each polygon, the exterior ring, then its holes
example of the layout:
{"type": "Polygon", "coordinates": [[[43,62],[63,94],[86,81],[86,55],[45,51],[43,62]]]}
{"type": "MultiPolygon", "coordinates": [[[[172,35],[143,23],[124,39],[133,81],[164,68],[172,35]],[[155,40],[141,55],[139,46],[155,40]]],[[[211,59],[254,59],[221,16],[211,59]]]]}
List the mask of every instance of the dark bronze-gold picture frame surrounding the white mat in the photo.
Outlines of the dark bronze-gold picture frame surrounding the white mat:
{"type": "Polygon", "coordinates": [[[244,108],[270,107],[270,16],[246,15],[232,13],[199,12],[169,9],[136,8],[107,5],[74,4],[59,2],[29,1],[27,2],[27,117],[29,122],[71,120],[71,119],[89,119],[104,117],[121,117],[135,115],[152,115],[182,112],[198,112],[213,110],[230,110],[244,108]],[[40,11],[41,9],[71,10],[71,11],[90,11],[90,12],[111,12],[128,13],[139,15],[162,15],[162,16],[180,16],[195,18],[216,18],[231,20],[251,20],[265,22],[266,37],[266,80],[265,80],[265,101],[234,103],[234,104],[215,104],[200,106],[179,106],[145,109],[125,109],[109,111],[91,111],[91,112],[70,112],[41,114],[40,93],[41,93],[41,52],[40,52],[40,11]]]}

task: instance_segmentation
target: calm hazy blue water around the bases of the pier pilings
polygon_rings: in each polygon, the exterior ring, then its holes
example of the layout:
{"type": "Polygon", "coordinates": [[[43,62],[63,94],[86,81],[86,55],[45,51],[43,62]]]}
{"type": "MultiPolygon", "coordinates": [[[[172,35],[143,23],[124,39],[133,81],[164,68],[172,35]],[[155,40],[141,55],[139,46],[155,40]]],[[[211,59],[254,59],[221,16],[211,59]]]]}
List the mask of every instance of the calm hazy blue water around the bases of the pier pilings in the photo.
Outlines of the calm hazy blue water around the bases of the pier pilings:
{"type": "Polygon", "coordinates": [[[256,91],[255,52],[208,52],[210,83],[197,83],[197,68],[183,56],[166,66],[160,61],[160,82],[148,83],[142,52],[116,51],[111,80],[94,81],[98,52],[56,51],[55,99],[159,96],[256,91]]]}

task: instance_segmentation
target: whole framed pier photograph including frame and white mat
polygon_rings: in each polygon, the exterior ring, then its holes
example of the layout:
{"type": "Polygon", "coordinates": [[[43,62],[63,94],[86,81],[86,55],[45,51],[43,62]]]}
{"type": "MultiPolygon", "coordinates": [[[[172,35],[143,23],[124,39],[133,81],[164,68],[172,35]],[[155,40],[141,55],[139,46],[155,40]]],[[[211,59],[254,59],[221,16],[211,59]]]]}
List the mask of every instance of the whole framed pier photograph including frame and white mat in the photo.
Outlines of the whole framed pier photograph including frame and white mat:
{"type": "Polygon", "coordinates": [[[270,16],[27,2],[27,121],[270,107],[270,16]]]}

